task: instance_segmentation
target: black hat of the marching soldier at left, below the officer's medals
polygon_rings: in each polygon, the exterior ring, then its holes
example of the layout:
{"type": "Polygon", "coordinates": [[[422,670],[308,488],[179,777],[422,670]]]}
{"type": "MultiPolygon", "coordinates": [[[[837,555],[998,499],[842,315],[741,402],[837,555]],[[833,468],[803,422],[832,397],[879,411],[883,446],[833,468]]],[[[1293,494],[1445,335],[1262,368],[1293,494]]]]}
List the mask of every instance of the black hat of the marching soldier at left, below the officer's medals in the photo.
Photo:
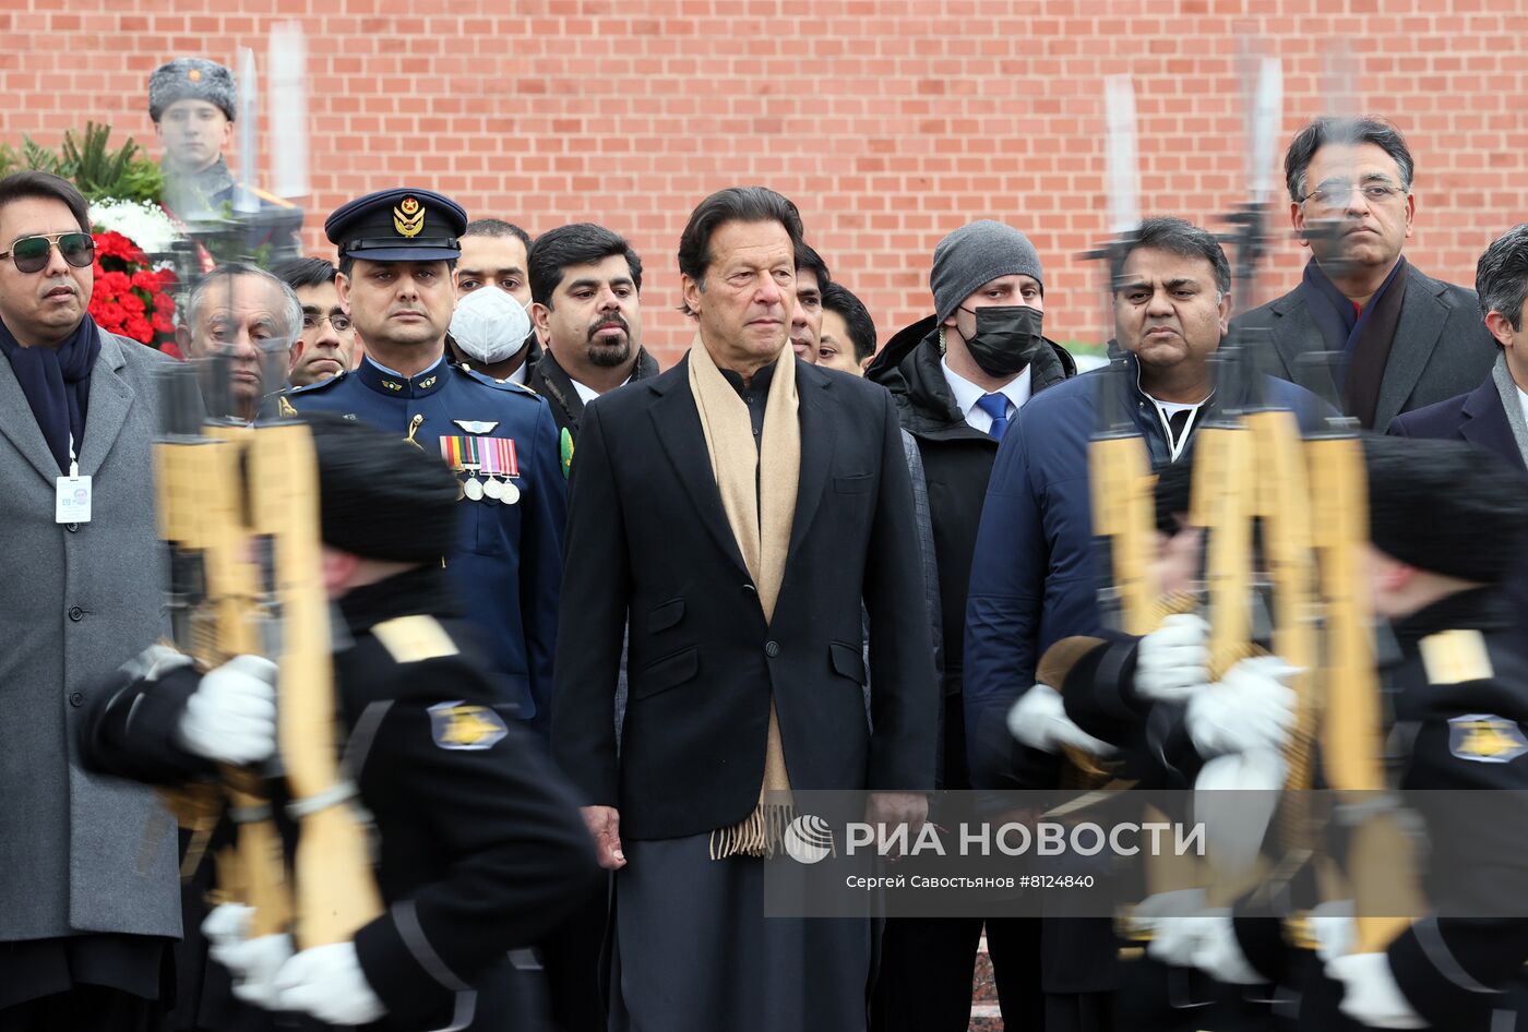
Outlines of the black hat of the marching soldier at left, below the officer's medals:
{"type": "Polygon", "coordinates": [[[325,545],[367,559],[435,562],[455,545],[457,478],[440,458],[370,423],[304,415],[318,453],[325,545]]]}

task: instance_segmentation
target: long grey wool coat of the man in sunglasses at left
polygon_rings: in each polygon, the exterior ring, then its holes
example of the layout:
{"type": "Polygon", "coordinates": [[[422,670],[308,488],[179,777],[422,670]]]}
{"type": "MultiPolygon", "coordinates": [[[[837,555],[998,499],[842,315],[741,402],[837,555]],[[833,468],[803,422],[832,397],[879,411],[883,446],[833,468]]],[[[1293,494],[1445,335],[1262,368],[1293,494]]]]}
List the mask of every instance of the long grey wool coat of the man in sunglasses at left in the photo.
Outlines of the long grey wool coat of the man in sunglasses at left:
{"type": "Polygon", "coordinates": [[[53,522],[58,466],[0,360],[0,942],[180,934],[174,820],[84,769],[93,693],[162,632],[154,527],[157,351],[101,334],[79,472],[92,519],[53,522]]]}

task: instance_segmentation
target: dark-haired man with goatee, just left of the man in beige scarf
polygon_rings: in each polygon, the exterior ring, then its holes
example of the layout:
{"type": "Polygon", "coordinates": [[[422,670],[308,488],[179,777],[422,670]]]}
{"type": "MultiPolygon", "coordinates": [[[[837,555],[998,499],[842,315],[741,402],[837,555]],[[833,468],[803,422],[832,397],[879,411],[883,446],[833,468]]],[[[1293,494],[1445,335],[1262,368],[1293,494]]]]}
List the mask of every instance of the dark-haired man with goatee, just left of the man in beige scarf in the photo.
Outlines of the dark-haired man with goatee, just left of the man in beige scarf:
{"type": "Polygon", "coordinates": [[[642,347],[642,258],[604,226],[573,223],[541,234],[527,264],[530,318],[545,340],[530,389],[576,444],[585,405],[659,374],[642,347]]]}

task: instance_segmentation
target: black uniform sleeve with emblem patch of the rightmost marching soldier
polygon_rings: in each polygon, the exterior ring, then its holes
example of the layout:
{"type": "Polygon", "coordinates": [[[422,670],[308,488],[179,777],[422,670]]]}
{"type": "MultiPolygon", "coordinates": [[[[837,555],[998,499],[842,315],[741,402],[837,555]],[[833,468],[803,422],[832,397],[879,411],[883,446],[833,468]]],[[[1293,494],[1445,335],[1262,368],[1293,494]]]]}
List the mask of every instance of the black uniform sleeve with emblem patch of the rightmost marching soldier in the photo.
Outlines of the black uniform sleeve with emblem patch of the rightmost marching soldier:
{"type": "MultiPolygon", "coordinates": [[[[1461,1015],[1491,1001],[1505,1006],[1504,989],[1528,962],[1528,919],[1517,916],[1528,898],[1528,734],[1522,724],[1494,716],[1507,699],[1488,682],[1471,687],[1484,689],[1468,690],[1476,705],[1461,708],[1456,695],[1452,721],[1438,714],[1423,722],[1406,779],[1407,786],[1430,789],[1412,798],[1420,800],[1432,843],[1429,890],[1444,899],[1435,899],[1439,911],[1413,922],[1387,954],[1406,998],[1433,1027],[1461,1027],[1461,1015]],[[1482,724],[1481,733],[1504,751],[1473,751],[1461,721],[1482,724]],[[1504,762],[1510,753],[1517,756],[1504,762]],[[1447,794],[1433,797],[1432,789],[1447,794]]],[[[1433,690],[1442,696],[1465,687],[1433,690]]]]}

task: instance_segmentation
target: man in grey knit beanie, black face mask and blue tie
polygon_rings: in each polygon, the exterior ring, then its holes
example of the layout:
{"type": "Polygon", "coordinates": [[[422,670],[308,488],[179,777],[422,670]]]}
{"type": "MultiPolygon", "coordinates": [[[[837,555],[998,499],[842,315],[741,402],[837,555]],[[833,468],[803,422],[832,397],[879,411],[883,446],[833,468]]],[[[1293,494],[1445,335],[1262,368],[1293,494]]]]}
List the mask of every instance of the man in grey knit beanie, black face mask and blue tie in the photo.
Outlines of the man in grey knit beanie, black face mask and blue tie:
{"type": "MultiPolygon", "coordinates": [[[[1041,336],[1045,282],[1028,238],[998,221],[957,229],[934,249],[935,313],[902,330],[876,356],[869,379],[891,389],[923,460],[938,566],[944,669],[941,788],[967,789],[961,647],[966,586],[998,441],[1033,392],[1076,374],[1067,351],[1041,336]]],[[[940,818],[950,824],[950,815],[940,818]]],[[[1039,1001],[1039,921],[986,922],[1004,1021],[1027,1027],[1039,1001]]],[[[903,918],[886,924],[876,986],[876,1027],[964,1030],[981,918],[903,918]]]]}

